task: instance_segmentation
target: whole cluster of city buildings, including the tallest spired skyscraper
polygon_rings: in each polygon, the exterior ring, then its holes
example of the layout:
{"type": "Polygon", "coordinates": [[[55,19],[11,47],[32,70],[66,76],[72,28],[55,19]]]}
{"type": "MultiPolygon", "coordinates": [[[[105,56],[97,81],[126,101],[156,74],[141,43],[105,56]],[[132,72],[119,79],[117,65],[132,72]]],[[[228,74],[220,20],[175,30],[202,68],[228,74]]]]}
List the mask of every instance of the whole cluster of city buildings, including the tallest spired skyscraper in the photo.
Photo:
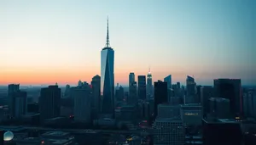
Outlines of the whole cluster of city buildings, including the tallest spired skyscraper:
{"type": "MultiPolygon", "coordinates": [[[[63,93],[57,84],[42,88],[38,111],[34,111],[37,114],[27,114],[36,107],[27,104],[27,94],[20,91],[19,85],[11,84],[8,87],[9,119],[38,119],[39,125],[62,127],[75,122],[102,128],[147,130],[153,136],[154,145],[240,145],[242,134],[252,133],[244,120],[256,119],[255,90],[242,92],[240,79],[216,79],[213,86],[200,86],[188,75],[185,86],[181,86],[180,82],[172,82],[172,75],[153,82],[150,70],[148,75],[136,76],[131,72],[128,77],[128,91],[119,84],[114,86],[114,51],[107,31],[106,46],[101,52],[101,76],[95,75],[90,83],[79,81],[77,86],[67,85],[63,93]],[[63,100],[69,107],[63,106],[63,100]]],[[[41,138],[17,142],[20,145],[55,142],[45,139],[49,136],[64,135],[49,132],[41,138]]],[[[126,143],[134,143],[132,138],[140,137],[130,137],[126,143]]]]}

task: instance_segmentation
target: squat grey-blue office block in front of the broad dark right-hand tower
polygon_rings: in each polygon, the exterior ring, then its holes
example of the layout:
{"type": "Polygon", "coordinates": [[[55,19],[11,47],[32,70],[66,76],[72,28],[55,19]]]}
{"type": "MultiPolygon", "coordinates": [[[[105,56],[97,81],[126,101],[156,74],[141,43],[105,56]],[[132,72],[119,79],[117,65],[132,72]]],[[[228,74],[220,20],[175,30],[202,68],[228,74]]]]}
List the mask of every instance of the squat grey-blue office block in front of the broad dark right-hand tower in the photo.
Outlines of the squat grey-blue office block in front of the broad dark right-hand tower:
{"type": "Polygon", "coordinates": [[[210,114],[218,119],[230,118],[230,100],[226,98],[209,99],[210,114]]]}

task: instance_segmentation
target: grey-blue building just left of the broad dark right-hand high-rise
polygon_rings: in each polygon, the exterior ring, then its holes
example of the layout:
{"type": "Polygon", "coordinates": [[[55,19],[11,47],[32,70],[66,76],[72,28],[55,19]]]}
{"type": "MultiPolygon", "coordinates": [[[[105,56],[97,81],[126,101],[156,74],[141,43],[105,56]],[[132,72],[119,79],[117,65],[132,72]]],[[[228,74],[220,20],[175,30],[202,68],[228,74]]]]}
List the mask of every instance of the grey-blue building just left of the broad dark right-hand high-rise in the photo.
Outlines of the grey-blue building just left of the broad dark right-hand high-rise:
{"type": "Polygon", "coordinates": [[[202,107],[202,114],[204,116],[210,113],[209,98],[212,98],[213,96],[214,96],[214,89],[212,86],[201,87],[201,107],[202,107]]]}

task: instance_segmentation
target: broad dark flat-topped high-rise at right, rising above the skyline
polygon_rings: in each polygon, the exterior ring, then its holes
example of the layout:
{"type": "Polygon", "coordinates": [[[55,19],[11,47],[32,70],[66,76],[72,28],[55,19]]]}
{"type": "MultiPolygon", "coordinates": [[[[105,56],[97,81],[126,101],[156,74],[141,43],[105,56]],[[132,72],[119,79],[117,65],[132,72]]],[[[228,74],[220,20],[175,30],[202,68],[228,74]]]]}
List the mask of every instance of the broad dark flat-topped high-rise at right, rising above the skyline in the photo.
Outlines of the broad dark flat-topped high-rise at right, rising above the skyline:
{"type": "Polygon", "coordinates": [[[233,117],[242,114],[240,79],[216,79],[214,80],[214,90],[217,97],[230,100],[230,111],[233,117]]]}

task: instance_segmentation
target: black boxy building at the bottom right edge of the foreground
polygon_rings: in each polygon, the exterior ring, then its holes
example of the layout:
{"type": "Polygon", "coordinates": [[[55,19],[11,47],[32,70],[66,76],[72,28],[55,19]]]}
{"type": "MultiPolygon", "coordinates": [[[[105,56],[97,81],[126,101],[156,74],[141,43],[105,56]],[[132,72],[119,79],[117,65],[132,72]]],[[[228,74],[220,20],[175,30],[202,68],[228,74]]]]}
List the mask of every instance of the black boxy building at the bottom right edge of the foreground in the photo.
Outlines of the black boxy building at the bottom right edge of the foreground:
{"type": "Polygon", "coordinates": [[[203,145],[241,145],[240,122],[236,120],[202,120],[203,145]]]}

